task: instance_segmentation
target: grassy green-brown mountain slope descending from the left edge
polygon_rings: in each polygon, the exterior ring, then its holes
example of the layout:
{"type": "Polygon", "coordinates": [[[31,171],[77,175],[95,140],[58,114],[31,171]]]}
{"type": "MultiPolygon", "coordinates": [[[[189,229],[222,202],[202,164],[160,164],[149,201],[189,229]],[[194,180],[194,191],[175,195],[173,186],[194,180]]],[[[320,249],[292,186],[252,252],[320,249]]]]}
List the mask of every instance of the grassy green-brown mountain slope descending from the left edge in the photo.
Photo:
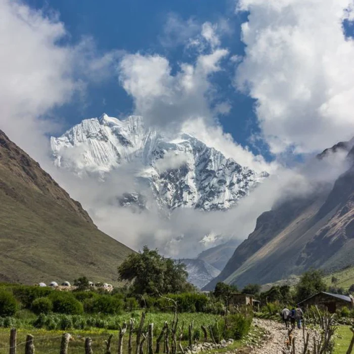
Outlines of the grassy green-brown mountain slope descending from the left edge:
{"type": "Polygon", "coordinates": [[[39,164],[0,130],[0,281],[114,282],[131,249],[99,231],[39,164]]]}

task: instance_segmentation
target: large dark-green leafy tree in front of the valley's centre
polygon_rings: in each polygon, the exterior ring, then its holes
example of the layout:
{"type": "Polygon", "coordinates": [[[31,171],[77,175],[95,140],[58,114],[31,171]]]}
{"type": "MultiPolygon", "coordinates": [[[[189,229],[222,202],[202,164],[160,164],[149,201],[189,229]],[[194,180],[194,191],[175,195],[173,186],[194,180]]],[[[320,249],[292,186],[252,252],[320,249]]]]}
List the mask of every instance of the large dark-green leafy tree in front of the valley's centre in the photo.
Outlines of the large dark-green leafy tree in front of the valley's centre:
{"type": "Polygon", "coordinates": [[[119,280],[133,281],[136,294],[177,293],[190,291],[184,263],[161,256],[157,249],[144,246],[143,251],[131,253],[118,267],[119,280]]]}

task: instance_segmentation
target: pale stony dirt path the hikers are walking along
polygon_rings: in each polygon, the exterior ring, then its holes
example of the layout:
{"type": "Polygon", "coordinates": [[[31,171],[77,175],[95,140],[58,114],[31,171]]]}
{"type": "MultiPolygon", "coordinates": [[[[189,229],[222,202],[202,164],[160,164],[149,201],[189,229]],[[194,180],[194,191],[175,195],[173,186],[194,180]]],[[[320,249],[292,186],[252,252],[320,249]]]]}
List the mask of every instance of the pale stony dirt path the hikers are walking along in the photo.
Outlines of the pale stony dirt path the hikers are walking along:
{"type": "MultiPolygon", "coordinates": [[[[248,352],[250,354],[281,354],[282,348],[285,347],[285,343],[288,338],[288,330],[285,328],[284,324],[276,321],[254,319],[253,325],[263,329],[265,331],[265,335],[262,339],[259,339],[255,343],[248,344],[250,350],[244,352],[248,352]]],[[[305,335],[306,332],[310,335],[308,349],[312,351],[313,337],[318,337],[319,334],[317,331],[311,329],[306,329],[305,335]]],[[[292,333],[295,337],[295,348],[297,348],[297,352],[302,352],[304,344],[302,330],[296,328],[292,333]]],[[[242,351],[239,352],[242,353],[242,351]]]]}

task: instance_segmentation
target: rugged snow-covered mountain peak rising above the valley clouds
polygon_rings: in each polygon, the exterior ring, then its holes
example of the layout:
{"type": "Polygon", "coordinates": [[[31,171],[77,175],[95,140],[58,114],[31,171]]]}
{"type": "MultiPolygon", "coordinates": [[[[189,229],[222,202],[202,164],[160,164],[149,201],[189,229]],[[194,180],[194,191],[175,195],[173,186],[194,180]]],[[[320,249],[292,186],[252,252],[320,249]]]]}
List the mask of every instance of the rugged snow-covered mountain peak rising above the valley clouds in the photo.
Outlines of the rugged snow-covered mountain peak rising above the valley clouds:
{"type": "MultiPolygon", "coordinates": [[[[228,209],[268,176],[185,132],[168,137],[147,128],[140,116],[119,120],[103,114],[85,119],[63,136],[52,137],[51,147],[55,164],[77,174],[98,172],[104,178],[105,173],[134,163],[137,183],[147,183],[163,209],[228,209]]],[[[123,197],[122,205],[124,200],[130,204],[143,199],[132,194],[123,197]]]]}

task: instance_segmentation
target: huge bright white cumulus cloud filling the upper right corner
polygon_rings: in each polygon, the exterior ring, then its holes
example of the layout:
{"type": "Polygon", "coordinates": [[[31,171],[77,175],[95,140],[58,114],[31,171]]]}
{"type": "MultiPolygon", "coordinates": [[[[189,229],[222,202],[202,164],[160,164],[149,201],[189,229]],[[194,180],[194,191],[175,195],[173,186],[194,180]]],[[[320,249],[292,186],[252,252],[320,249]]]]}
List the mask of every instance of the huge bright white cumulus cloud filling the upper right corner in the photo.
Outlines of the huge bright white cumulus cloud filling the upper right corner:
{"type": "Polygon", "coordinates": [[[257,100],[271,151],[321,150],[354,135],[352,0],[240,0],[246,52],[235,84],[257,100]]]}

